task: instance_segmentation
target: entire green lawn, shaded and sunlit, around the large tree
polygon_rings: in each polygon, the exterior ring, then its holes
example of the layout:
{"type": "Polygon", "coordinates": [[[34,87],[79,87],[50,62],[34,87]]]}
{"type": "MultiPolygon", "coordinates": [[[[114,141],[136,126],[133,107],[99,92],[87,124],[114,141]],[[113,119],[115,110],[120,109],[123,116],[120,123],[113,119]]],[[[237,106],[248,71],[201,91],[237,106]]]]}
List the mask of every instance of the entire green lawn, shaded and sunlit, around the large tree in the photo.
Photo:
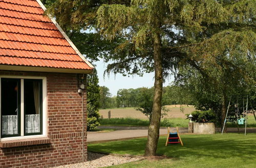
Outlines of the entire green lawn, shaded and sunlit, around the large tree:
{"type": "MultiPolygon", "coordinates": [[[[256,133],[215,135],[181,135],[180,144],[165,147],[166,137],[161,136],[158,155],[168,159],[142,160],[115,167],[256,167],[256,133]]],[[[89,151],[143,155],[146,138],[121,142],[91,144],[89,151]]]]}

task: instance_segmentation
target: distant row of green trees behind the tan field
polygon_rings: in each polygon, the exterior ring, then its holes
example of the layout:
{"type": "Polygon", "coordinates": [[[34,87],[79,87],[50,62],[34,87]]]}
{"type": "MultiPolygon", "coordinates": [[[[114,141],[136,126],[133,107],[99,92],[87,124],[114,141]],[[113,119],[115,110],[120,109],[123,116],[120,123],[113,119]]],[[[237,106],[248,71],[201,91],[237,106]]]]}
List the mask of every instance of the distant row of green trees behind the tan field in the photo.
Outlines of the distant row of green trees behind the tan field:
{"type": "MultiPolygon", "coordinates": [[[[140,107],[146,101],[152,102],[154,87],[137,89],[119,89],[117,96],[112,96],[109,88],[100,89],[99,108],[140,107]]],[[[187,90],[180,86],[170,85],[163,87],[162,105],[189,104],[195,105],[196,99],[187,90]]]]}

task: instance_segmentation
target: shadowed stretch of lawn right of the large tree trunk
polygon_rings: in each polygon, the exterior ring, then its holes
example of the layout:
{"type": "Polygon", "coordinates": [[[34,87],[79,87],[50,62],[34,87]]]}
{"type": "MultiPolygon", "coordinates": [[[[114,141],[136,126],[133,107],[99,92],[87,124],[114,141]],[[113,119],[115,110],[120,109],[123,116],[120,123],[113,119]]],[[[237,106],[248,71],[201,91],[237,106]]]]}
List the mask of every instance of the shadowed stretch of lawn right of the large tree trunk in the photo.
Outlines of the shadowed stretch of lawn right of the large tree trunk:
{"type": "Polygon", "coordinates": [[[169,157],[210,157],[210,158],[233,158],[246,157],[255,159],[256,134],[244,136],[242,134],[217,134],[217,135],[190,135],[181,137],[184,146],[172,145],[161,147],[165,139],[160,139],[158,154],[169,157]]]}

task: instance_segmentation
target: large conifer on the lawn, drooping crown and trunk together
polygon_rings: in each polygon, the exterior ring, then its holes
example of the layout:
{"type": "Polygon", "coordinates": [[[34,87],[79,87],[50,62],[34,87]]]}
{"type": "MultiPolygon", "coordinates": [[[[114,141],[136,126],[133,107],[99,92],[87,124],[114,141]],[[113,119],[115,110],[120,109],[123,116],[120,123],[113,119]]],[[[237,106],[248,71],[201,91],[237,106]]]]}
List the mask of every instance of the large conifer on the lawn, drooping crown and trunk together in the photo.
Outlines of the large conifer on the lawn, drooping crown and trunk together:
{"type": "Polygon", "coordinates": [[[241,57],[245,53],[254,56],[256,13],[253,0],[56,2],[49,12],[63,27],[73,32],[98,23],[95,30],[112,40],[114,49],[104,55],[105,61],[114,62],[107,72],[128,75],[155,72],[153,112],[145,155],[156,154],[164,77],[188,64],[206,78],[207,66],[224,62],[219,59],[224,52],[230,57],[239,52],[241,57]]]}

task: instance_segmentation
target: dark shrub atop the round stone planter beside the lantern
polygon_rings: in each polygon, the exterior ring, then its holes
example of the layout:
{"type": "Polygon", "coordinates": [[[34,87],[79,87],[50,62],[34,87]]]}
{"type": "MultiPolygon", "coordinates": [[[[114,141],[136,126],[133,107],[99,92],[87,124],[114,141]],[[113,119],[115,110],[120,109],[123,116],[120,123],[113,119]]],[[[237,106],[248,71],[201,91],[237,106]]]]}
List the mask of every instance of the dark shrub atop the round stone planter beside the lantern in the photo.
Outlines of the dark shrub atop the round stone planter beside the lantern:
{"type": "MultiPolygon", "coordinates": [[[[216,114],[213,110],[206,110],[206,111],[193,111],[191,113],[192,121],[197,123],[215,123],[216,122],[216,114]]],[[[189,114],[186,115],[187,119],[189,114]]]]}

